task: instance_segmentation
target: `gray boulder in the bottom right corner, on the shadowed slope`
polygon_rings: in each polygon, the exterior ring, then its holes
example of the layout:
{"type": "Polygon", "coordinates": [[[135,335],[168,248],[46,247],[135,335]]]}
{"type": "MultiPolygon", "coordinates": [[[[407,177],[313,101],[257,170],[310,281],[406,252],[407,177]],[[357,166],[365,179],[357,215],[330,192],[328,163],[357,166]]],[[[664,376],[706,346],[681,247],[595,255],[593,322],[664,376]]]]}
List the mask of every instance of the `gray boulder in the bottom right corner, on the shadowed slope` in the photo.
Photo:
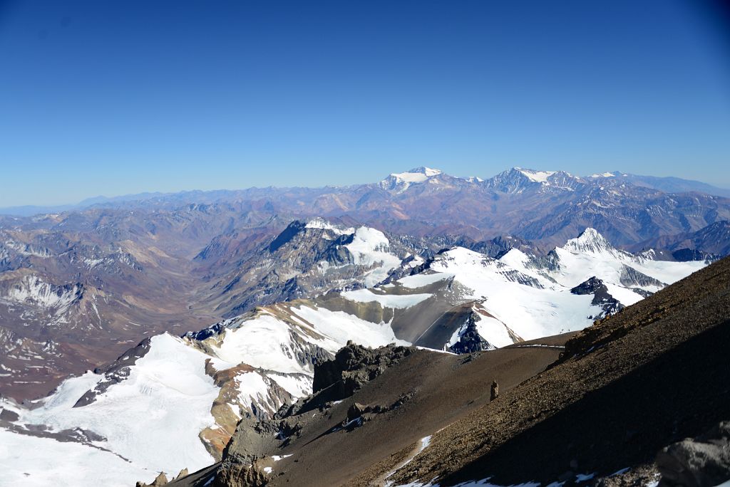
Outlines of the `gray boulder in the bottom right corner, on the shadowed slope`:
{"type": "Polygon", "coordinates": [[[730,421],[667,446],[656,456],[656,466],[660,487],[713,487],[730,480],[730,421]]]}

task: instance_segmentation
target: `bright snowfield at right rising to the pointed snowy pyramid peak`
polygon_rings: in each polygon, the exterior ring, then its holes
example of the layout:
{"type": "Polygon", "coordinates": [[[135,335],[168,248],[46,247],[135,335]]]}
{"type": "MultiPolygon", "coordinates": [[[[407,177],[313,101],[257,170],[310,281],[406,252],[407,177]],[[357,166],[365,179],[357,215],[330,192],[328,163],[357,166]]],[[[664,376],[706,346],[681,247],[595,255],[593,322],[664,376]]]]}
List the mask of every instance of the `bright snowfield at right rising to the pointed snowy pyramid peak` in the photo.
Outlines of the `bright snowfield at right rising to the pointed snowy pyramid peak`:
{"type": "MultiPolygon", "coordinates": [[[[530,340],[580,330],[593,322],[593,316],[602,311],[591,305],[593,295],[570,292],[588,278],[600,278],[612,297],[629,306],[642,299],[642,295],[631,288],[656,292],[664,284],[672,284],[706,265],[703,261],[666,262],[630,254],[615,249],[592,228],[557,247],[552,254],[556,262],[546,263],[511,249],[499,260],[493,260],[456,247],[434,260],[431,270],[471,289],[466,297],[482,300],[483,308],[498,322],[530,340]],[[621,276],[627,267],[663,284],[624,286],[621,276]]],[[[409,276],[403,281],[432,282],[438,275],[409,276]]],[[[506,343],[503,328],[493,322],[477,322],[477,330],[495,346],[506,343]]],[[[452,341],[455,339],[453,337],[452,341]]]]}

